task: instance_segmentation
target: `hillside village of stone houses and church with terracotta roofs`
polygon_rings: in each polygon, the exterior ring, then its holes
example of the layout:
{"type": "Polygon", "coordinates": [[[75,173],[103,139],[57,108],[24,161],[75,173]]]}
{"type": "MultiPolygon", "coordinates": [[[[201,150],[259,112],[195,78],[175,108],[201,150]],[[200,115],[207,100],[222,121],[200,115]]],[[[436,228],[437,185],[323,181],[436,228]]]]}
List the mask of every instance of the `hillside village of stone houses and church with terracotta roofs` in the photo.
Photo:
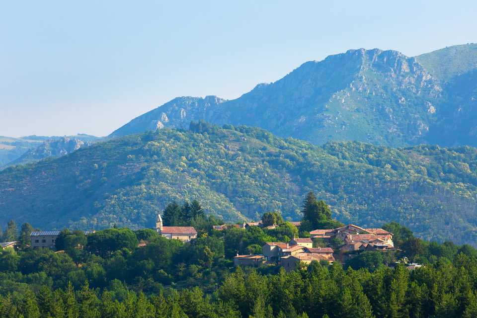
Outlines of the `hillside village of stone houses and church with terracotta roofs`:
{"type": "MultiPolygon", "coordinates": [[[[289,222],[300,228],[301,222],[289,222]]],[[[213,226],[215,231],[224,231],[228,228],[247,229],[259,227],[275,229],[279,225],[263,225],[262,221],[241,224],[223,224],[213,226]]],[[[189,242],[197,239],[194,227],[163,226],[162,217],[157,215],[156,232],[167,239],[178,239],[189,242]]],[[[84,231],[85,235],[95,231],[84,231]]],[[[60,231],[33,231],[30,235],[30,246],[33,248],[55,249],[55,242],[60,231]]],[[[2,248],[13,248],[17,242],[0,243],[2,248]]],[[[140,241],[138,247],[147,245],[147,241],[140,241]]],[[[309,233],[309,237],[292,238],[288,242],[266,242],[260,254],[244,254],[234,257],[235,266],[266,266],[278,265],[286,271],[304,268],[311,262],[332,264],[339,261],[344,264],[347,260],[357,256],[362,251],[393,251],[397,250],[393,242],[393,234],[380,228],[361,228],[350,224],[335,229],[317,229],[309,233]]],[[[419,266],[418,264],[412,264],[419,266]]]]}

